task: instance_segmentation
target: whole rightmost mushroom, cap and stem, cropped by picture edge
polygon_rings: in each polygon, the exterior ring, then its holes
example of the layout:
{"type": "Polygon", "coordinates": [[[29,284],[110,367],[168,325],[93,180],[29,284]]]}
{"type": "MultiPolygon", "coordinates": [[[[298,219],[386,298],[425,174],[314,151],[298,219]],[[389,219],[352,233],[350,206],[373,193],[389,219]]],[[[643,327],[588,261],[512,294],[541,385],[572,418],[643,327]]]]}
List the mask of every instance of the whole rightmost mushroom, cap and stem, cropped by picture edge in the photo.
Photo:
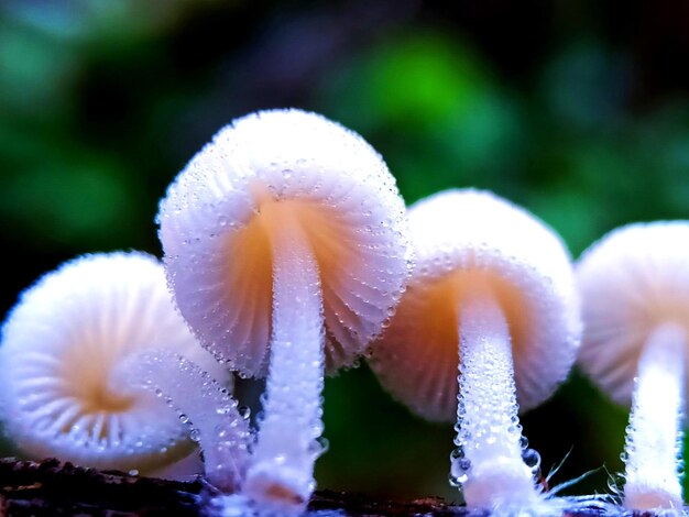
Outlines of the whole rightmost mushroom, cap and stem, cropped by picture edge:
{"type": "Polygon", "coordinates": [[[579,364],[614,402],[632,406],[622,457],[628,509],[682,507],[688,243],[689,221],[628,224],[589,248],[577,266],[579,364]]]}

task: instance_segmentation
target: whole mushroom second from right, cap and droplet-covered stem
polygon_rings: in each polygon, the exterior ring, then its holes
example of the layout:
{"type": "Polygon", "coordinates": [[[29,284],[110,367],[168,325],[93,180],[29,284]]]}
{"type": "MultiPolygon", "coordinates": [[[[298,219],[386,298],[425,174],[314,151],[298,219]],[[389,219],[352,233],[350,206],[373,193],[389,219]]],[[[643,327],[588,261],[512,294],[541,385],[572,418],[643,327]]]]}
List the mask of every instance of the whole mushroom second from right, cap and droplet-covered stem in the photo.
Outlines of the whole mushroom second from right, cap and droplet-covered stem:
{"type": "Polygon", "coordinates": [[[540,221],[488,191],[439,193],[408,219],[416,266],[371,366],[417,415],[456,416],[450,480],[469,507],[547,508],[517,410],[549,397],[575,361],[569,255],[540,221]]]}

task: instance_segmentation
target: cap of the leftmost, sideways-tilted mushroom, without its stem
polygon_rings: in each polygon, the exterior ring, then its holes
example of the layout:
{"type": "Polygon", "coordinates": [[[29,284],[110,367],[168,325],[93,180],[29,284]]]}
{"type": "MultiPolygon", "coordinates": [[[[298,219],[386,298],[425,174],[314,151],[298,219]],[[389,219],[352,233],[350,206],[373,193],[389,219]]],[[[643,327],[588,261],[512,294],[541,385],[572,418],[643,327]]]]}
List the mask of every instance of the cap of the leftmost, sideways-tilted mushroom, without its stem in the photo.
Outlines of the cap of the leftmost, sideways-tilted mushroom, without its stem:
{"type": "Polygon", "coordinates": [[[28,455],[150,472],[193,450],[165,402],[117,382],[164,348],[228,380],[177,312],[163,265],[144,253],[86,255],[24,290],[2,327],[0,417],[28,455]]]}

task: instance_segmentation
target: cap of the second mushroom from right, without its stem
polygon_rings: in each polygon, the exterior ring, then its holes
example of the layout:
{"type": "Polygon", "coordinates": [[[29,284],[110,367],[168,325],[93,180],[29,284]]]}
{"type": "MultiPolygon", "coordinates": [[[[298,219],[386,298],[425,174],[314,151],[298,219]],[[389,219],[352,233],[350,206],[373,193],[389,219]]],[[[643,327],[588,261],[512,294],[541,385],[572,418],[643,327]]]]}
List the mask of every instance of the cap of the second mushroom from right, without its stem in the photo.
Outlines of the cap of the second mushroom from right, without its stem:
{"type": "Polygon", "coordinates": [[[429,420],[457,415],[459,307],[489,293],[505,314],[517,399],[528,409],[571,369],[580,339],[569,254],[543,222],[488,191],[446,190],[408,212],[416,266],[373,345],[382,385],[429,420]]]}

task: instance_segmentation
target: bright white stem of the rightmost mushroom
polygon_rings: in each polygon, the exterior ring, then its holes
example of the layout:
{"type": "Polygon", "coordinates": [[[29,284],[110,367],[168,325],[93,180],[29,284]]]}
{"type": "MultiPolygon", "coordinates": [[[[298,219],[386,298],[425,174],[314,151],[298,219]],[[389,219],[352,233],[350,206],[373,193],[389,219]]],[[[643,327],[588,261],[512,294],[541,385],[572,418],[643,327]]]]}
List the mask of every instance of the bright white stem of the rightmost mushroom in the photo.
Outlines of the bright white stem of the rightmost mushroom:
{"type": "Polygon", "coordinates": [[[649,336],[638,360],[625,446],[628,509],[682,507],[680,455],[687,336],[675,323],[649,336]]]}

